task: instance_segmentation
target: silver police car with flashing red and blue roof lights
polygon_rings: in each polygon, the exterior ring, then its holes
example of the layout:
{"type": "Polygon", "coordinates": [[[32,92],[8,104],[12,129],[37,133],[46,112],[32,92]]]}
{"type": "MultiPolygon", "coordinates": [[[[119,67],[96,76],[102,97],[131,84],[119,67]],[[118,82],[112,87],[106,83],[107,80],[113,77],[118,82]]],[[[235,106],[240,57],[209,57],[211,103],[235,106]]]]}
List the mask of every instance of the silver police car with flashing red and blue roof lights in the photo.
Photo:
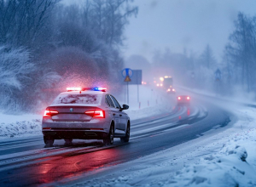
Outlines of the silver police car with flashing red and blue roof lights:
{"type": "Polygon", "coordinates": [[[113,138],[129,142],[130,117],[106,88],[67,88],[44,111],[42,133],[44,143],[52,146],[55,139],[103,139],[113,144],[113,138]]]}

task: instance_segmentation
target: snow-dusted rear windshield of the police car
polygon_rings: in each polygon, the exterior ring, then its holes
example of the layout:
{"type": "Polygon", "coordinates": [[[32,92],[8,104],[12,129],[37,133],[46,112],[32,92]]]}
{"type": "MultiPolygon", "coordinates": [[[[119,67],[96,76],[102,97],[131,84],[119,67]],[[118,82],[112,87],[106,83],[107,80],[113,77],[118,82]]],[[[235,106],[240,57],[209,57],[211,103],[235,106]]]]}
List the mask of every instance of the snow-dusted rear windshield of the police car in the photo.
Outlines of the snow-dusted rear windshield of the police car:
{"type": "Polygon", "coordinates": [[[61,94],[52,104],[100,104],[99,94],[61,94]]]}

